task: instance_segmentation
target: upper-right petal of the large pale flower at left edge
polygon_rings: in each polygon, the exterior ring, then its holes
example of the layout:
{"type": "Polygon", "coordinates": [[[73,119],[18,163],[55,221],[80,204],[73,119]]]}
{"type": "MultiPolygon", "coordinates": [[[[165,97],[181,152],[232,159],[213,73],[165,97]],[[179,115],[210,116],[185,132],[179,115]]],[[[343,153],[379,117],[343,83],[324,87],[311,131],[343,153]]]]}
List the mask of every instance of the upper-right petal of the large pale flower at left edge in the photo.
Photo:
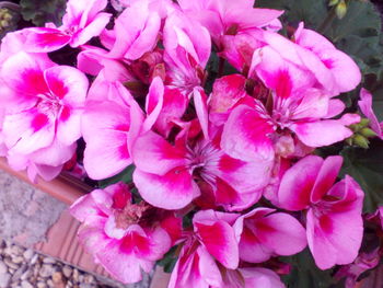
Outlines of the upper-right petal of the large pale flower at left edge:
{"type": "Polygon", "coordinates": [[[89,81],[80,70],[69,66],[57,66],[44,71],[50,92],[71,107],[83,107],[89,81]]]}

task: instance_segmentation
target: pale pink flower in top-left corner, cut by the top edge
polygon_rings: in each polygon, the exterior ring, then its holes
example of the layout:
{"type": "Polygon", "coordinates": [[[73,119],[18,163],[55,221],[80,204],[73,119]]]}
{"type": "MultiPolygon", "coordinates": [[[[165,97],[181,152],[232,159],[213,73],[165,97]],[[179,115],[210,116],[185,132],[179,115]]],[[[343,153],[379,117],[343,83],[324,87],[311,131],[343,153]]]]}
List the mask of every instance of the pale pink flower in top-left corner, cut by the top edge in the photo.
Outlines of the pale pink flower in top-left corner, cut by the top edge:
{"type": "Polygon", "coordinates": [[[26,36],[25,49],[30,53],[48,53],[67,44],[71,47],[85,44],[98,36],[109,22],[111,14],[100,12],[106,4],[106,0],[69,0],[60,27],[48,23],[46,27],[22,31],[26,36]]]}

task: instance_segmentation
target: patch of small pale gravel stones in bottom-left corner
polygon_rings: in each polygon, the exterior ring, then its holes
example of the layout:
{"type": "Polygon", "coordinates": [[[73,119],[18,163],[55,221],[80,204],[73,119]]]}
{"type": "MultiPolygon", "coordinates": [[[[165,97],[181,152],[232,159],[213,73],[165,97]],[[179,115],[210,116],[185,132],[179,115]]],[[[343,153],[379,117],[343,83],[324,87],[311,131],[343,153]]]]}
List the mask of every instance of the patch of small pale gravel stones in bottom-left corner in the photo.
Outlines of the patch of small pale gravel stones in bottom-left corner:
{"type": "Polygon", "coordinates": [[[104,280],[24,249],[0,241],[0,288],[115,288],[104,280]]]}

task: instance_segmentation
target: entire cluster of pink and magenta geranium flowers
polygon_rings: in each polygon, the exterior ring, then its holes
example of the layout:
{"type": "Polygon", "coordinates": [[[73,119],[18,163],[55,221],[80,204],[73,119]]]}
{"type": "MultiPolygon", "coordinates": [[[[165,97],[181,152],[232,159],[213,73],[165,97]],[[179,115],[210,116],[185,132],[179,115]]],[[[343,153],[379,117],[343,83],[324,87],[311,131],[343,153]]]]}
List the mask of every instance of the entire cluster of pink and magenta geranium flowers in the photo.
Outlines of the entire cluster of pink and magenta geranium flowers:
{"type": "MultiPolygon", "coordinates": [[[[358,256],[363,192],[338,180],[340,155],[313,152],[352,136],[361,118],[336,96],[360,71],[303,23],[282,36],[282,11],[253,2],[127,0],[112,19],[106,0],[69,0],[61,26],[2,41],[0,152],[11,166],[50,180],[81,137],[91,178],[135,166],[131,183],[71,207],[80,240],[123,283],[172,246],[174,288],[285,287],[270,261],[306,246],[321,269],[358,256]],[[67,45],[76,67],[49,58],[67,45]]],[[[367,91],[360,105],[382,137],[367,91]]]]}

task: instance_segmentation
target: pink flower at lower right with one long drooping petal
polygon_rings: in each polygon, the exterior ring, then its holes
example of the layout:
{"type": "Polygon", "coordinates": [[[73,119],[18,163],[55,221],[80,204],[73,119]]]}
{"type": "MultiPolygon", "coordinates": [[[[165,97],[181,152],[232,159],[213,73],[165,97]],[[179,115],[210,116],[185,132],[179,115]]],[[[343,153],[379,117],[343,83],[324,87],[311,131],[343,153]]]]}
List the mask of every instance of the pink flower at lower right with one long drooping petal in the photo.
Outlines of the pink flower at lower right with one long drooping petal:
{"type": "Polygon", "coordinates": [[[306,210],[309,247],[321,269],[351,263],[363,235],[363,192],[348,175],[334,184],[341,162],[305,157],[285,173],[278,192],[282,208],[306,210]]]}

